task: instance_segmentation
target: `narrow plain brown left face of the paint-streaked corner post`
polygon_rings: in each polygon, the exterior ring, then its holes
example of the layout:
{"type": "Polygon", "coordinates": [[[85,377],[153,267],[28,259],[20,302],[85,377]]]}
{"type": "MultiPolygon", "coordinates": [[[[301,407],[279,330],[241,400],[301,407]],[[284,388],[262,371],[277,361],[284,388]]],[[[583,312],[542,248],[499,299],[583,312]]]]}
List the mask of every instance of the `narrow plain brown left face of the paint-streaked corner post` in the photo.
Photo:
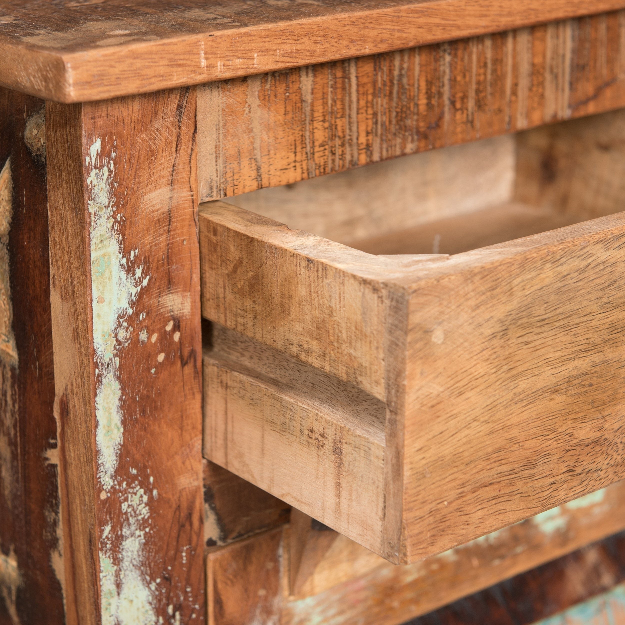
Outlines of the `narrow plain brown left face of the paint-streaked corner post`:
{"type": "Polygon", "coordinates": [[[50,301],[54,347],[54,416],[64,537],[67,621],[99,621],[93,441],[93,339],[89,273],[64,269],[89,262],[78,106],[46,106],[50,301]],[[73,479],[74,478],[74,479],[73,479]]]}

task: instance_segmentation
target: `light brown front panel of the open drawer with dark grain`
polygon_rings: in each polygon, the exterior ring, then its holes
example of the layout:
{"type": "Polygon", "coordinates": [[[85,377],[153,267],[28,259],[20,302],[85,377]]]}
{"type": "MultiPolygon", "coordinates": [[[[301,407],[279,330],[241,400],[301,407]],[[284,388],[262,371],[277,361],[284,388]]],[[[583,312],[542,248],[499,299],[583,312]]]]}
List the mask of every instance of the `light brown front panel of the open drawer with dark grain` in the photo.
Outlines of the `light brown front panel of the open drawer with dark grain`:
{"type": "Polygon", "coordinates": [[[451,256],[410,287],[409,559],[428,543],[450,546],[449,524],[465,542],[482,523],[506,525],[623,476],[612,264],[623,236],[622,214],[601,217],[451,256]]]}

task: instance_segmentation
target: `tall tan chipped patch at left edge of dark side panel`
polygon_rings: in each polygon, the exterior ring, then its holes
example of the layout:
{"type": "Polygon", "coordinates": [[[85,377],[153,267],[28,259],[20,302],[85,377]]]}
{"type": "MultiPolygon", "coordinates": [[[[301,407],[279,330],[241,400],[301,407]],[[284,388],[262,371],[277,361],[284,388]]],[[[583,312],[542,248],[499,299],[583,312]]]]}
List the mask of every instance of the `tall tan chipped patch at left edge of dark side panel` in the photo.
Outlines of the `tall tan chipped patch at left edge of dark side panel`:
{"type": "Polygon", "coordinates": [[[0,360],[17,366],[17,349],[13,335],[13,304],[9,282],[9,230],[13,216],[13,183],[11,159],[0,171],[0,360]]]}

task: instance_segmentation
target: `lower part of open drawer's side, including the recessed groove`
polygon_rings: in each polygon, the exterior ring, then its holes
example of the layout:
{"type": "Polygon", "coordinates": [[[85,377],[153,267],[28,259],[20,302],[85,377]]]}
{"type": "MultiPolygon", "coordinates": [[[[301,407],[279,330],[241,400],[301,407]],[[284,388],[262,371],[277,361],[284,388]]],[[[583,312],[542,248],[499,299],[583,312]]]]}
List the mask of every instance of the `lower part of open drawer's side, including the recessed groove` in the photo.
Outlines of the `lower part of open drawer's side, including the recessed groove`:
{"type": "Polygon", "coordinates": [[[215,326],[204,354],[206,457],[306,512],[322,507],[323,522],[379,549],[382,402],[215,326]],[[295,466],[316,479],[303,486],[295,466]]]}

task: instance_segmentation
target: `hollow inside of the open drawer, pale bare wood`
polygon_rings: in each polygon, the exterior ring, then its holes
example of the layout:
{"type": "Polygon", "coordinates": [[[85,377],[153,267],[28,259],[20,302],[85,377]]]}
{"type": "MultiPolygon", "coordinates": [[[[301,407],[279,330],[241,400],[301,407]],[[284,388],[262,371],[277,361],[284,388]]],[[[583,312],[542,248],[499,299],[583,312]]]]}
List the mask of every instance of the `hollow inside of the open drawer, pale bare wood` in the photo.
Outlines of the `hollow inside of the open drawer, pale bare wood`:
{"type": "Polygon", "coordinates": [[[624,153],[615,111],[228,202],[370,254],[457,254],[621,211],[624,153]]]}

